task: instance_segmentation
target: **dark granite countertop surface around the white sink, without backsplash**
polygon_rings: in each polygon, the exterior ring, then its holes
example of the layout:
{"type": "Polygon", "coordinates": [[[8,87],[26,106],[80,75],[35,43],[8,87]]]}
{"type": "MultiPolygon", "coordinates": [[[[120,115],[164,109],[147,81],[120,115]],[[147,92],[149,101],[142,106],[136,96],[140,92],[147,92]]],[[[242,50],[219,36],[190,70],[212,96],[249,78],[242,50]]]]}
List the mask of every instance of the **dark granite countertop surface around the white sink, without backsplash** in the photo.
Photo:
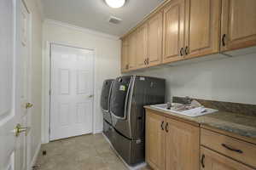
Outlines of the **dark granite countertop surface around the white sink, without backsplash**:
{"type": "Polygon", "coordinates": [[[241,113],[218,111],[204,116],[190,117],[156,109],[150,105],[144,106],[144,108],[153,111],[159,111],[170,116],[177,116],[183,120],[196,122],[200,125],[215,127],[230,133],[236,133],[241,136],[256,139],[256,116],[247,116],[241,113]]]}

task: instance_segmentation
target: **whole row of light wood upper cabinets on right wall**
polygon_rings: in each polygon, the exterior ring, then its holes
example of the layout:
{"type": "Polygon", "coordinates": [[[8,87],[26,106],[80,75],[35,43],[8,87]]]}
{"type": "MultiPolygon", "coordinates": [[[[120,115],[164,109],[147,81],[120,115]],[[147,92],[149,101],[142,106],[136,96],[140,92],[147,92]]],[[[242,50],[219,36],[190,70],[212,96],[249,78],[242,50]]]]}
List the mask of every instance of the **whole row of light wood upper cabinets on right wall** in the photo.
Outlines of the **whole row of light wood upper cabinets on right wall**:
{"type": "Polygon", "coordinates": [[[255,8],[256,0],[168,0],[123,37],[122,71],[256,46],[255,8]]]}

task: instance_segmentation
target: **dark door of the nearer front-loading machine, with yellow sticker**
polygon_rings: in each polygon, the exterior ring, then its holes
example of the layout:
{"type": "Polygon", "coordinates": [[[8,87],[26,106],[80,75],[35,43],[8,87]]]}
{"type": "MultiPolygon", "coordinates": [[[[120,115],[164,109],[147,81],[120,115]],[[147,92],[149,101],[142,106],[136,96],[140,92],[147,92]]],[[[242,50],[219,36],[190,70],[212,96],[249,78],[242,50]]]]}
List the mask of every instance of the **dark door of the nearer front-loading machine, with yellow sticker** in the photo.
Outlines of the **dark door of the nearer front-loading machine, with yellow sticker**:
{"type": "Polygon", "coordinates": [[[109,111],[116,119],[126,119],[126,103],[131,88],[131,77],[118,77],[113,81],[109,111]]]}

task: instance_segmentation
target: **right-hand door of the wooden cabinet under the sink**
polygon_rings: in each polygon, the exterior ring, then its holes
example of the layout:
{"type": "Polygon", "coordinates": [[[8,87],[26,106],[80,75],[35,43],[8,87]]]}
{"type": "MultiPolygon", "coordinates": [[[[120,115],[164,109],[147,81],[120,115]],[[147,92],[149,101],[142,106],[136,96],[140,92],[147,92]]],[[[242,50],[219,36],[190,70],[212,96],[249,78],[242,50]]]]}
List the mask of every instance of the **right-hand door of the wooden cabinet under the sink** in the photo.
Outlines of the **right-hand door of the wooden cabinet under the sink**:
{"type": "Polygon", "coordinates": [[[199,169],[199,127],[166,118],[166,170],[199,169]]]}

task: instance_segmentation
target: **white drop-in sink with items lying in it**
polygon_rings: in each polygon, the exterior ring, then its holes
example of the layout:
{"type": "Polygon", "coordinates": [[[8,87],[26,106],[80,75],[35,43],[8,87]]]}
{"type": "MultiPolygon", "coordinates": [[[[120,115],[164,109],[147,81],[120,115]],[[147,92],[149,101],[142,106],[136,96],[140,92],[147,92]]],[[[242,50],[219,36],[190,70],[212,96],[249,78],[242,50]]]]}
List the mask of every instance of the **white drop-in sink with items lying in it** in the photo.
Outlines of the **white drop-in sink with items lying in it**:
{"type": "Polygon", "coordinates": [[[177,113],[184,116],[193,116],[193,117],[203,116],[203,115],[207,115],[207,114],[218,111],[211,108],[205,108],[204,106],[193,108],[189,105],[183,105],[183,104],[172,104],[172,107],[169,109],[167,109],[167,104],[150,105],[150,106],[163,111],[169,111],[172,113],[177,113]]]}

